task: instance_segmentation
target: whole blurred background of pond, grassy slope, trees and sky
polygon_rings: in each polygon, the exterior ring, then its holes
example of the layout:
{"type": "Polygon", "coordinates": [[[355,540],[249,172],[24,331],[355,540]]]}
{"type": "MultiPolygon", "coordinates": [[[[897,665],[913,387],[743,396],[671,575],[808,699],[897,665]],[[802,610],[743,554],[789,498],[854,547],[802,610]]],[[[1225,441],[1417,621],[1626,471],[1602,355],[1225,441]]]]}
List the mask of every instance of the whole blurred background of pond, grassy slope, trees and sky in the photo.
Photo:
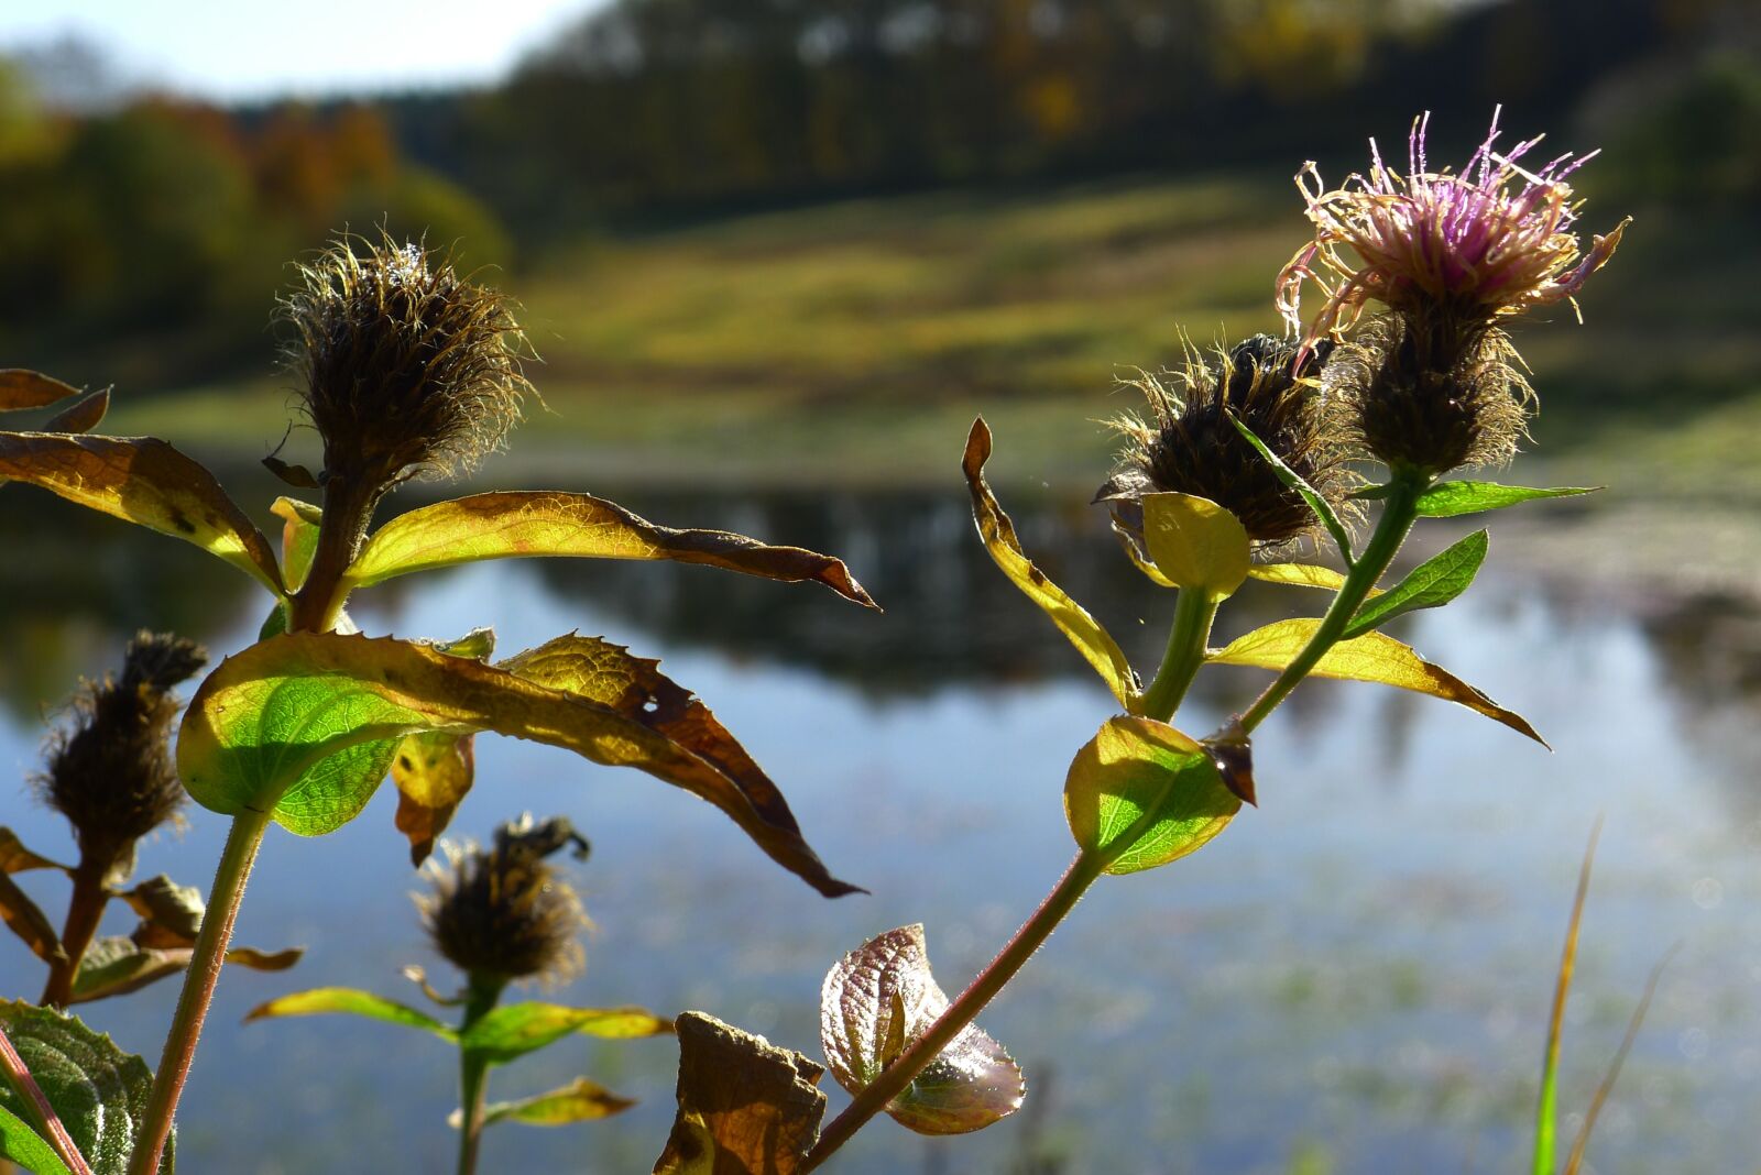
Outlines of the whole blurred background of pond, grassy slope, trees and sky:
{"type": "MultiPolygon", "coordinates": [[[[967,1140],[882,1122],[842,1166],[1511,1170],[1571,878],[1606,813],[1564,1103],[1585,1105],[1682,938],[1592,1166],[1752,1170],[1752,0],[14,5],[0,366],[114,385],[106,431],[201,456],[268,526],[284,487],[257,461],[285,436],[284,457],[317,464],[313,434],[289,434],[276,292],[291,259],[384,225],[509,288],[544,359],[546,408],[484,485],[592,489],[847,558],[884,617],[602,565],[398,580],[357,609],[370,631],[495,623],[511,653],[581,628],[666,656],[873,897],[822,902],[713,811],[523,744],[479,749],[454,830],[532,807],[595,841],[576,872],[601,929],[558,997],[704,1008],[815,1052],[819,976],[842,952],[923,920],[954,989],[1032,908],[1069,855],[1065,763],[1109,712],[972,535],[956,466],[972,417],[997,433],[991,475],[1028,549],[1152,665],[1168,600],[1085,505],[1111,447],[1094,420],[1134,406],[1116,376],[1175,361],[1182,331],[1277,329],[1303,160],[1342,179],[1370,135],[1398,157],[1432,111],[1432,160],[1460,162],[1499,104],[1509,139],[1603,150],[1574,176],[1585,232],[1636,218],[1581,325],[1562,306],[1518,327],[1543,412],[1511,480],[1608,491],[1497,517],[1481,584],[1396,635],[1557,753],[1439,702],[1305,686],[1259,741],[1263,809],[1178,869],[1104,885],[984,1018],[1028,1069],[1028,1108],[967,1140]]],[[[1428,544],[1453,536],[1437,529],[1428,544]]],[[[37,491],[0,494],[0,756],[18,779],[46,707],[136,626],[225,653],[261,619],[247,580],[199,552],[37,491]]],[[[1233,623],[1314,605],[1250,593],[1233,623]]],[[[1217,674],[1189,725],[1259,684],[1217,674]]],[[[23,785],[0,797],[4,823],[58,850],[23,785]]],[[[453,1075],[433,1041],[227,1020],[289,987],[396,994],[398,967],[426,960],[391,807],[380,795],[317,843],[271,836],[241,936],[312,953],[222,987],[183,1170],[446,1164],[453,1075]]],[[[143,871],[206,883],[222,832],[192,813],[143,871]]],[[[0,978],[39,982],[12,943],[0,978]]],[[[171,997],[90,1018],[155,1057],[171,997]]],[[[498,1094],[585,1071],[643,1106],[504,1126],[486,1170],[648,1170],[671,1064],[666,1043],[583,1041],[504,1075],[498,1094]]]]}

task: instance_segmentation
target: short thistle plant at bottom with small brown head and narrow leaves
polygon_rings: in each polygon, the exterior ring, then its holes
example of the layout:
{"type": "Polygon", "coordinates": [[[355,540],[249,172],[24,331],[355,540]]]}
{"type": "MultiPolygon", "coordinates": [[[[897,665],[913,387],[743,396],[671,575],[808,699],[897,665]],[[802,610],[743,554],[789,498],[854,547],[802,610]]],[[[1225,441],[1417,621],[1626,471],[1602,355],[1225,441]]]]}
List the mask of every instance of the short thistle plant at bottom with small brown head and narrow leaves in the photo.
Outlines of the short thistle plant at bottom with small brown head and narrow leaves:
{"type": "Polygon", "coordinates": [[[578,934],[586,927],[581,901],[548,857],[572,846],[586,858],[586,841],[562,816],[534,823],[530,816],[495,830],[490,848],[446,846],[446,865],[428,862],[433,890],[417,897],[435,950],[458,967],[465,987],[442,996],[421,967],[409,967],[423,992],[442,1008],[461,1008],[456,1027],[372,992],[321,987],[271,999],[247,1020],[321,1013],[359,1015],[431,1033],[453,1043],[460,1055],[458,1171],[477,1170],[483,1129],[495,1122],[567,1126],[622,1113],[636,1103],[586,1078],[519,1101],[488,1103],[488,1075],[495,1066],[553,1045],[565,1036],[660,1036],[673,1031],[641,1008],[567,1008],[521,1001],[502,1004],[509,983],[555,983],[581,967],[578,934]]]}

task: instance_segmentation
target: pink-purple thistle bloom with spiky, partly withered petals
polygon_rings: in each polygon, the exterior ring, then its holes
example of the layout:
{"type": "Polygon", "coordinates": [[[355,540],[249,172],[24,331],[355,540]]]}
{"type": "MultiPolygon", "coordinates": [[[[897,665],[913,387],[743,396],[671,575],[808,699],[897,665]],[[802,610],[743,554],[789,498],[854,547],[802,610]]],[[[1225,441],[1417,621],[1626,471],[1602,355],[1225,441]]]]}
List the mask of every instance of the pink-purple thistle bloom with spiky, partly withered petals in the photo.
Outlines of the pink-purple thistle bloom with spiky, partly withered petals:
{"type": "Polygon", "coordinates": [[[1581,158],[1566,153],[1529,171],[1518,160],[1541,135],[1495,151],[1500,132],[1493,111],[1492,130],[1467,167],[1433,172],[1425,158],[1428,125],[1430,114],[1412,120],[1405,176],[1382,162],[1374,139],[1368,178],[1354,172],[1328,192],[1314,162],[1296,174],[1315,237],[1278,274],[1277,306],[1300,331],[1303,281],[1314,280],[1326,292],[1326,304],[1303,331],[1305,352],[1356,322],[1370,299],[1409,313],[1444,308],[1483,325],[1571,299],[1620,244],[1631,216],[1597,236],[1588,253],[1571,230],[1578,204],[1566,178],[1595,151],[1581,158]]]}

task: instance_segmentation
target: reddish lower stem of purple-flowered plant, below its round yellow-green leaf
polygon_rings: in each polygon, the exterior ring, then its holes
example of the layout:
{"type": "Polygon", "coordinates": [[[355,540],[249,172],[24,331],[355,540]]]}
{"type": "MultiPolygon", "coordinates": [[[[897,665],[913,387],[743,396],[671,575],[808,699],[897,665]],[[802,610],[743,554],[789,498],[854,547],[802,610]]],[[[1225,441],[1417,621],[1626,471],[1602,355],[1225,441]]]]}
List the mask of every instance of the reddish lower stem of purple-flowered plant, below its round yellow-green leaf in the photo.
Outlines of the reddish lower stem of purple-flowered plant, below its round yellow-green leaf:
{"type": "MultiPolygon", "coordinates": [[[[1131,836],[1122,837],[1127,844],[1131,836]]],[[[923,1069],[935,1061],[935,1057],[953,1043],[956,1036],[984,1010],[997,992],[1004,989],[1009,980],[1016,976],[1021,966],[1034,955],[1035,950],[1044,945],[1051,932],[1060,922],[1076,908],[1076,902],[1095,883],[1106,867],[1109,857],[1104,853],[1078,853],[1071,867],[1064,871],[1064,876],[1046,895],[1046,901],[1039,904],[1039,909],[1028,916],[1021,929],[1014,932],[1014,938],[997,953],[984,971],[979,973],[976,980],[960,994],[953,1004],[947,1006],[935,1024],[925,1031],[905,1052],[893,1059],[880,1076],[873,1080],[865,1091],[856,1094],[856,1099],[844,1108],[831,1126],[824,1129],[819,1142],[801,1161],[796,1170],[803,1175],[807,1171],[817,1170],[831,1154],[851,1140],[863,1124],[868,1122],[875,1113],[886,1108],[893,1098],[902,1094],[910,1082],[923,1073],[923,1069]]]]}

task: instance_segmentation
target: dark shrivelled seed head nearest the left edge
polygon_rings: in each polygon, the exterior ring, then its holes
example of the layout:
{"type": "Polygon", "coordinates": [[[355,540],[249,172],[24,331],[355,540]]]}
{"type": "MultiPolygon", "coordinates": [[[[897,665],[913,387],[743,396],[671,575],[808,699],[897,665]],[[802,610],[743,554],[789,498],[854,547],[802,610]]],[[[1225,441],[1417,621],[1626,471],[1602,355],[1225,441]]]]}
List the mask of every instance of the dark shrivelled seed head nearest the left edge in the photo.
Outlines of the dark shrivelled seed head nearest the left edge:
{"type": "Polygon", "coordinates": [[[134,843],[183,802],[171,758],[171,690],[208,663],[208,653],[171,633],[141,631],[129,642],[122,677],[81,682],[72,721],[49,733],[37,793],[67,816],[81,860],[109,871],[132,858],[134,843]]]}

